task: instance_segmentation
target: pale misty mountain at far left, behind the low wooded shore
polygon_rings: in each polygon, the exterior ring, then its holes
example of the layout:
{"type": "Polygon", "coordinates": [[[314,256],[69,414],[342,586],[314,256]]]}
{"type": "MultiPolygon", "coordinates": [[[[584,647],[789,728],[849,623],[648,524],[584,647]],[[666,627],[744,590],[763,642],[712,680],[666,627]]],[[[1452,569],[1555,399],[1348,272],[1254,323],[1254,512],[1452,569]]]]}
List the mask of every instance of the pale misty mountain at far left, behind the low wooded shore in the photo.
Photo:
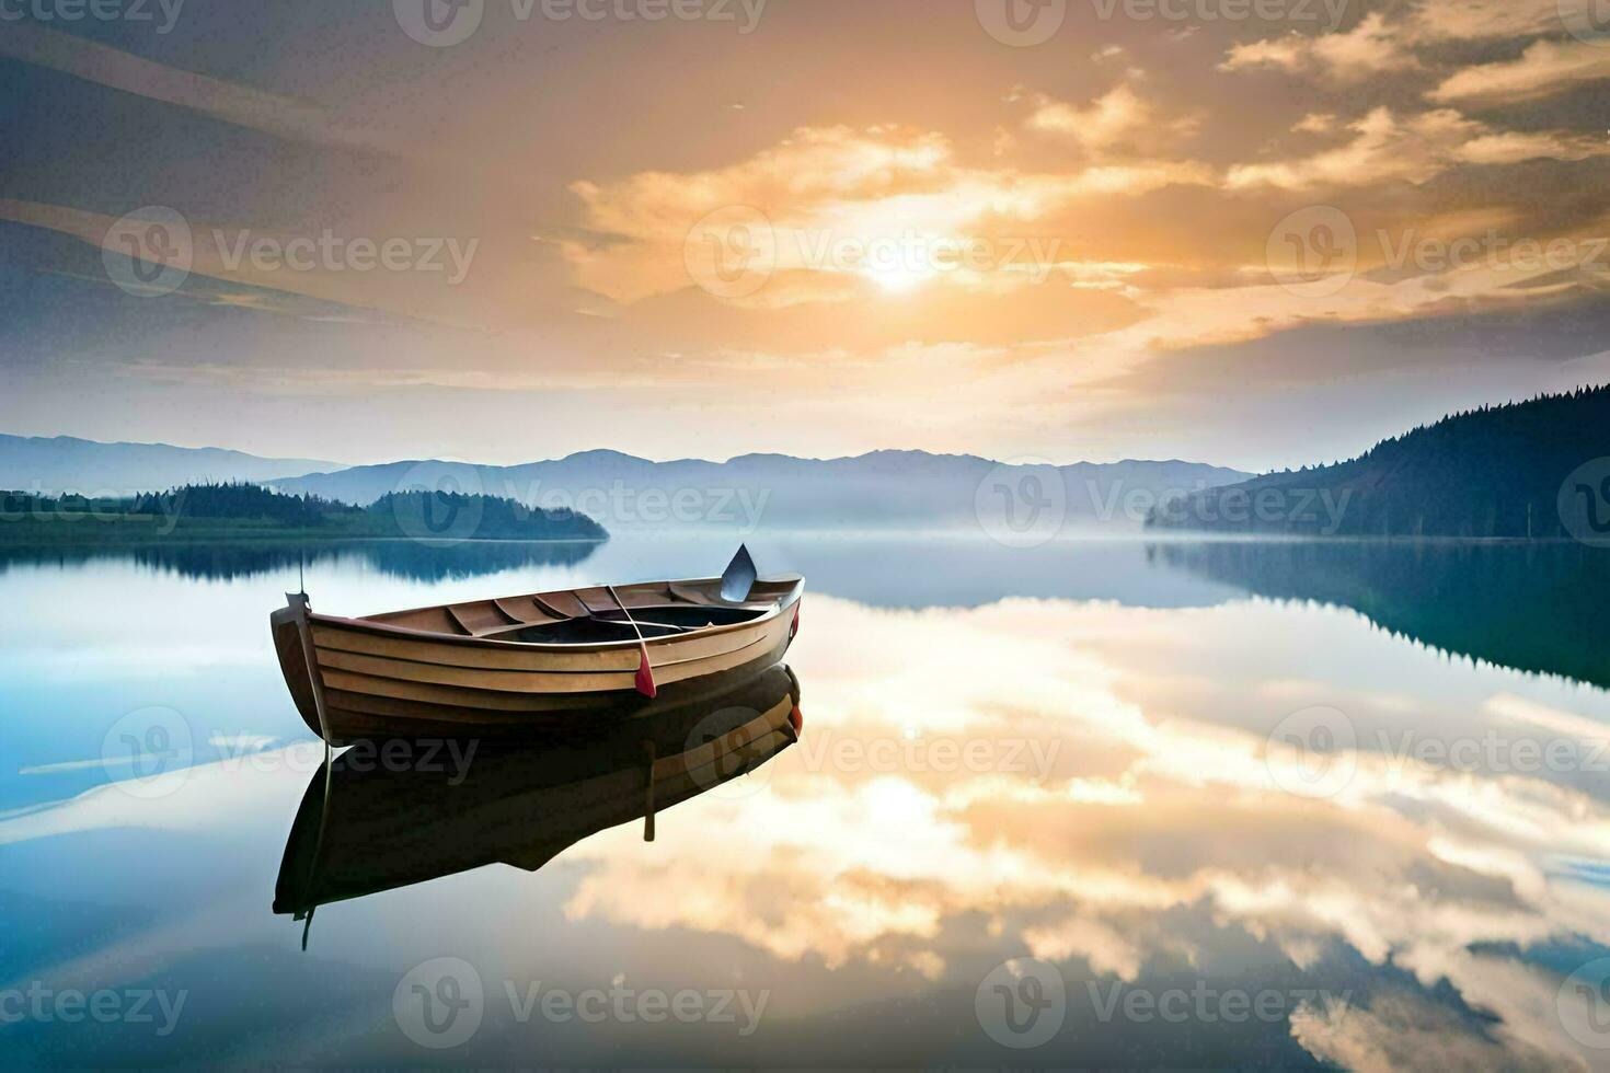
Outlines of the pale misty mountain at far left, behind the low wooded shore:
{"type": "Polygon", "coordinates": [[[18,492],[127,495],[209,481],[262,483],[333,468],[338,468],[333,462],[259,458],[217,447],[0,434],[0,489],[18,492]]]}

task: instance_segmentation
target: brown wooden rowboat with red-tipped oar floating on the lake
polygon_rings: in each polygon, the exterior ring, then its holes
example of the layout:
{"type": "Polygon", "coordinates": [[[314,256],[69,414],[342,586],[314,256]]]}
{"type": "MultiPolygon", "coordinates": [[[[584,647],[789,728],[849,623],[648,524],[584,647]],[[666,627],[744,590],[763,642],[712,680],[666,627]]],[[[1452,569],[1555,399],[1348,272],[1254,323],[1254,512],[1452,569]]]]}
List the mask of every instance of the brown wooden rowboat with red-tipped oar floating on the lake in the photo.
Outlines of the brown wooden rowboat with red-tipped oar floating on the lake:
{"type": "Polygon", "coordinates": [[[269,616],[285,684],[325,742],[568,732],[712,674],[758,674],[799,631],[805,579],[721,578],[533,592],[367,618],[269,616]]]}

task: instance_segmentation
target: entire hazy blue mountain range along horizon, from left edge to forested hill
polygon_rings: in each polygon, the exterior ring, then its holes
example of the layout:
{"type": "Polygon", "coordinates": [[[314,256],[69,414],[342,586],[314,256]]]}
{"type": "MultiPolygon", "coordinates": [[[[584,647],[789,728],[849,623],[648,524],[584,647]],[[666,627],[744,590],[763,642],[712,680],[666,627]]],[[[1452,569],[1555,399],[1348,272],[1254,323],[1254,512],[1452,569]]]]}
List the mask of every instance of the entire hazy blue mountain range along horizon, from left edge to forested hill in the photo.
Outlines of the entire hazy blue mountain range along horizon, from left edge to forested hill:
{"type": "Polygon", "coordinates": [[[570,507],[607,529],[705,526],[753,531],[968,528],[1046,534],[1063,524],[1138,528],[1161,499],[1245,481],[1193,462],[1001,465],[976,455],[879,450],[855,458],[744,455],[650,462],[588,450],[552,462],[481,467],[415,460],[343,468],[237,450],[0,436],[0,489],[135,494],[250,481],[367,507],[401,491],[570,507]]]}

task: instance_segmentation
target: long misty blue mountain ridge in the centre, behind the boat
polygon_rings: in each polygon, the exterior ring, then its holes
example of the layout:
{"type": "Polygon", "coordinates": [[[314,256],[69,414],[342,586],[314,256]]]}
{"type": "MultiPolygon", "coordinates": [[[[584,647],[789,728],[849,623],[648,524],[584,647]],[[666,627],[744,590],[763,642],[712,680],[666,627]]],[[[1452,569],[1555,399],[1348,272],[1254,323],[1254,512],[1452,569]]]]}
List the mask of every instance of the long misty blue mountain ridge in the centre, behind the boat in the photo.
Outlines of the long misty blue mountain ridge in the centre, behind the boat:
{"type": "Polygon", "coordinates": [[[1169,495],[1233,484],[1248,473],[1191,462],[1009,467],[972,455],[881,450],[855,458],[742,455],[731,462],[649,462],[591,450],[552,462],[477,467],[394,462],[280,479],[287,492],[367,505],[396,491],[488,494],[580,510],[605,528],[755,529],[966,528],[1050,532],[1135,526],[1169,495]]]}

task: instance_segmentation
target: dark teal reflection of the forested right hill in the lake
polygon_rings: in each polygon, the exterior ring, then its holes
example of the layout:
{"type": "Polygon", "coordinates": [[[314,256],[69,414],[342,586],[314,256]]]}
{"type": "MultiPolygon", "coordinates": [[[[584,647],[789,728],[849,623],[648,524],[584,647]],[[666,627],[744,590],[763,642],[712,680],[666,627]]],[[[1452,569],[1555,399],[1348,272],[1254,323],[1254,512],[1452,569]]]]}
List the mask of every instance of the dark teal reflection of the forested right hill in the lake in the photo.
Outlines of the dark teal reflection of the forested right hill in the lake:
{"type": "Polygon", "coordinates": [[[1161,544],[1154,561],[1317,600],[1444,652],[1610,687],[1610,555],[1583,544],[1161,544]]]}

